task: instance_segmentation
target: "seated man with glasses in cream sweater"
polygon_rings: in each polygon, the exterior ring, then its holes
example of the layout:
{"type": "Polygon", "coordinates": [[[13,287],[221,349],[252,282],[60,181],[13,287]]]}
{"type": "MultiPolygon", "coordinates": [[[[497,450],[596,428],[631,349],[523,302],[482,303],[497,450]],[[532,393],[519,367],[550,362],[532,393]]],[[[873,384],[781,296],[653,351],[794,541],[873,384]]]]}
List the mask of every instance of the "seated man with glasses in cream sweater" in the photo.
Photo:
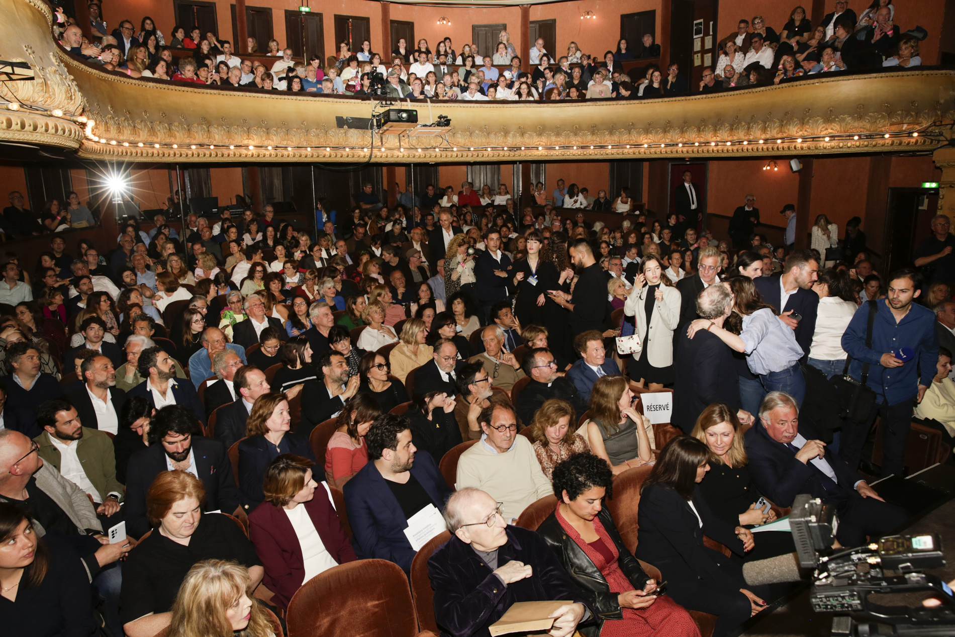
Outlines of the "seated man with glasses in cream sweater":
{"type": "Polygon", "coordinates": [[[482,435],[457,461],[456,489],[476,487],[503,502],[513,524],[532,502],[553,493],[530,441],[518,435],[518,416],[510,403],[492,401],[478,418],[482,435]]]}

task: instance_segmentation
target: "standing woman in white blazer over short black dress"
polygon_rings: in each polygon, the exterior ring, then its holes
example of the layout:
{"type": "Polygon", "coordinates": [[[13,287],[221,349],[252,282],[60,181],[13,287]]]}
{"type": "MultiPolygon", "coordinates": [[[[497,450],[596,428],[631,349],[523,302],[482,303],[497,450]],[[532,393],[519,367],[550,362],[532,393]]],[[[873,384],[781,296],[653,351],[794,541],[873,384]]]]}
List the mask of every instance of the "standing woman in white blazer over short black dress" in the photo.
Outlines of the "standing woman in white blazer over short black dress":
{"type": "Polygon", "coordinates": [[[626,371],[640,387],[662,390],[673,382],[673,330],[680,320],[680,290],[663,273],[655,256],[640,262],[624,314],[636,317],[643,348],[626,362],[626,371]]]}

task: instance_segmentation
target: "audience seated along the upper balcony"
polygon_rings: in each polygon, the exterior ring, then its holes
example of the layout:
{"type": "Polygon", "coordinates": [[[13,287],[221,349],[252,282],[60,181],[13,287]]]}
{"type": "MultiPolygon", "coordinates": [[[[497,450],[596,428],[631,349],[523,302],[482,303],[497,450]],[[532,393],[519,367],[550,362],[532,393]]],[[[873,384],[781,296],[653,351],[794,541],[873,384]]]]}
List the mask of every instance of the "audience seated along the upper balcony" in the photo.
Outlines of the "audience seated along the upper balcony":
{"type": "MultiPolygon", "coordinates": [[[[499,33],[493,51],[478,52],[477,45],[465,44],[456,53],[450,37],[432,50],[424,38],[409,50],[403,38],[392,53],[375,53],[369,40],[357,51],[347,42],[339,43],[337,55],[323,60],[293,60],[292,50],[280,50],[270,40],[261,52],[255,38],[248,38],[248,53],[256,59],[243,60],[237,47],[218,39],[213,32],[189,25],[175,25],[169,44],[152,18],[144,17],[136,32],[129,20],[118,23],[109,35],[97,5],[91,9],[90,42],[72,18],[61,14],[61,44],[110,71],[131,77],[152,77],[197,85],[249,87],[302,93],[331,93],[345,96],[384,95],[401,98],[453,99],[463,101],[541,101],[565,99],[642,99],[716,93],[734,87],[779,83],[803,75],[922,64],[919,42],[927,36],[921,27],[909,32],[893,22],[895,7],[887,0],[873,0],[859,14],[845,0],[835,2],[834,11],[822,22],[811,23],[805,8],[796,7],[784,25],[769,26],[762,16],[741,19],[735,32],[717,44],[716,64],[703,69],[699,86],[690,86],[689,70],[679,65],[666,69],[652,60],[660,56],[660,45],[652,34],[640,44],[620,39],[603,55],[582,53],[576,42],[562,51],[548,52],[539,38],[526,53],[530,72],[521,71],[522,59],[506,31],[499,33]],[[93,15],[93,13],[96,15],[93,15]],[[635,45],[635,46],[634,46],[635,45]],[[178,49],[187,56],[173,55],[178,49]],[[264,62],[261,55],[277,57],[264,62]],[[642,67],[623,63],[648,59],[642,67]]],[[[177,53],[180,53],[179,51],[177,53]]],[[[56,214],[53,210],[53,215],[56,214]]],[[[58,221],[58,218],[56,218],[58,221]]],[[[56,223],[56,222],[52,222],[56,223]]],[[[69,214],[65,223],[70,223],[69,214]]]]}

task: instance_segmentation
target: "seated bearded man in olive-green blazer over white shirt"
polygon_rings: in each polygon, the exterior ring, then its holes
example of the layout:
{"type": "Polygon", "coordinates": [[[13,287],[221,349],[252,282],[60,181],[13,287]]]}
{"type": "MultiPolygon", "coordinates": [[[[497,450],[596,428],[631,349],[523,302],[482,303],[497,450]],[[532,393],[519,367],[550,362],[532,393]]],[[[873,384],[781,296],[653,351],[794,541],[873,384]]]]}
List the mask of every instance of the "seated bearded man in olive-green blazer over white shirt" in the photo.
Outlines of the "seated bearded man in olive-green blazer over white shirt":
{"type": "Polygon", "coordinates": [[[116,514],[124,488],[109,436],[83,427],[74,406],[61,398],[40,403],[36,421],[44,430],[33,439],[37,455],[93,499],[96,514],[116,514]]]}

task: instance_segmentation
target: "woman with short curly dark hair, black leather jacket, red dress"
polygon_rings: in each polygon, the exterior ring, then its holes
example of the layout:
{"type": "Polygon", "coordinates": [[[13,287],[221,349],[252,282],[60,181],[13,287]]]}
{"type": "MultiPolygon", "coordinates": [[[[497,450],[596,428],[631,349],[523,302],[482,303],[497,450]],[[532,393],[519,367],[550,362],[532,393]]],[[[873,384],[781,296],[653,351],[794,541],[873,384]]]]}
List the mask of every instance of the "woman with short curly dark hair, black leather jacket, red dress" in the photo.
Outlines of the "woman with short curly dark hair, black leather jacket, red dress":
{"type": "Polygon", "coordinates": [[[554,468],[554,513],[538,533],[597,612],[596,624],[581,626],[587,637],[639,635],[689,637],[699,630],[683,606],[656,594],[652,580],[626,549],[609,511],[613,473],[593,454],[575,454],[554,468]]]}

